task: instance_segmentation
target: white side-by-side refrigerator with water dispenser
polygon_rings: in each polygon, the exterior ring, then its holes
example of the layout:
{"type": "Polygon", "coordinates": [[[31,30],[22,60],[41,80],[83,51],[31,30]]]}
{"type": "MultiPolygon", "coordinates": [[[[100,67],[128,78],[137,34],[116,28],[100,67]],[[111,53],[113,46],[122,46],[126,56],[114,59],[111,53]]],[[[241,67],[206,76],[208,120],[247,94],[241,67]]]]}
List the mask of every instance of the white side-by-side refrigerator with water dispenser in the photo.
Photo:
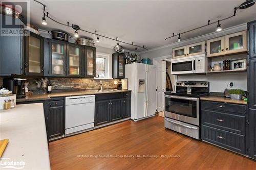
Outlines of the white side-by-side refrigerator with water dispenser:
{"type": "Polygon", "coordinates": [[[131,118],[134,121],[156,113],[156,66],[142,63],[125,65],[128,89],[132,90],[131,118]]]}

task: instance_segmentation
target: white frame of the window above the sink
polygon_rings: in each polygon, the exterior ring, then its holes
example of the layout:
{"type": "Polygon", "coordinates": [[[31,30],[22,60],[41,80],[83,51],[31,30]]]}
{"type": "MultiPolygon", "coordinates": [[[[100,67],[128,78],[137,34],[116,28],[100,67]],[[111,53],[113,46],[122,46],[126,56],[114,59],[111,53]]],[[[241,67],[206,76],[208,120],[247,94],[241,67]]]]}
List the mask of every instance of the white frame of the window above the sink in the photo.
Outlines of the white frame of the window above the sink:
{"type": "MultiPolygon", "coordinates": [[[[111,54],[96,52],[96,58],[97,57],[105,59],[105,77],[104,78],[95,77],[94,79],[112,79],[112,57],[111,57],[111,54]]],[[[97,65],[97,63],[95,63],[95,64],[97,65]]]]}

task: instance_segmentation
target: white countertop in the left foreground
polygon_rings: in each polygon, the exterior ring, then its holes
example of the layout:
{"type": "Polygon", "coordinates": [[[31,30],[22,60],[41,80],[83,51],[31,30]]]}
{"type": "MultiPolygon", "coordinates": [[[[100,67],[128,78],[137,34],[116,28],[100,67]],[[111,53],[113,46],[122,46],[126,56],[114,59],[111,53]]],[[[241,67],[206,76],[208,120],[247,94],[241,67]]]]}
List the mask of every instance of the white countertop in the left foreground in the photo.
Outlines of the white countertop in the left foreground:
{"type": "Polygon", "coordinates": [[[51,169],[42,103],[16,105],[14,109],[1,110],[0,139],[6,138],[9,142],[2,155],[0,169],[10,169],[5,166],[51,169]],[[19,165],[15,165],[17,163],[19,165]]]}

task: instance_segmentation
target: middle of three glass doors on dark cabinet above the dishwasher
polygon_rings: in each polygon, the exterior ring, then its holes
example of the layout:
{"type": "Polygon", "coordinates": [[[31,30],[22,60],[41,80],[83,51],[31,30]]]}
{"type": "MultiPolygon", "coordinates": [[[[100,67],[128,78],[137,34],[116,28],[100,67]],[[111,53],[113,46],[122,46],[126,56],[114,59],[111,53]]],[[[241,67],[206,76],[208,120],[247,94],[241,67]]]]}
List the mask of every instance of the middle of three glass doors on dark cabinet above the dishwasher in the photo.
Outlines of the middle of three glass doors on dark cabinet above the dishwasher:
{"type": "Polygon", "coordinates": [[[68,56],[67,56],[67,63],[68,63],[68,71],[67,75],[69,77],[80,77],[81,76],[81,47],[78,45],[71,45],[68,46],[68,56]]]}

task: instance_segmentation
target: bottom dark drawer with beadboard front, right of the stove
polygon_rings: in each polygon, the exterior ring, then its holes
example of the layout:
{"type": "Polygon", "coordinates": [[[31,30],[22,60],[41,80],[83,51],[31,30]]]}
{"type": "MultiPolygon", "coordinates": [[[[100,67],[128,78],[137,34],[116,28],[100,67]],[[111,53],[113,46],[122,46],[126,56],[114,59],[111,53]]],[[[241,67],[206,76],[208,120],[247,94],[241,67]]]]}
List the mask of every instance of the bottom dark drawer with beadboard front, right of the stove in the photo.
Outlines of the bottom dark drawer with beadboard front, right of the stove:
{"type": "Polygon", "coordinates": [[[202,125],[202,139],[245,154],[245,136],[202,125]]]}

